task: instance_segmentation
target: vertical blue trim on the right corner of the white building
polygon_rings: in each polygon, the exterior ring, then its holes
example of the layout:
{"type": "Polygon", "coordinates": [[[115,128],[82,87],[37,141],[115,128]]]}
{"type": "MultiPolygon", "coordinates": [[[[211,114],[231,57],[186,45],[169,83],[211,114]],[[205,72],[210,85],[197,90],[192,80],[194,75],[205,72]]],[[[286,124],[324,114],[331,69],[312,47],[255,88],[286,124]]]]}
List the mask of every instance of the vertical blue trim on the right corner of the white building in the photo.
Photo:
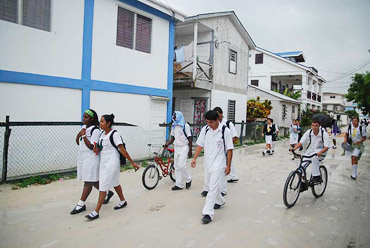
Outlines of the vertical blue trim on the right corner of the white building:
{"type": "MultiPolygon", "coordinates": [[[[167,89],[171,92],[169,101],[167,102],[167,123],[171,122],[172,118],[172,102],[173,102],[173,59],[175,53],[175,21],[172,19],[169,23],[169,39],[168,39],[168,72],[167,72],[167,89]]],[[[166,129],[166,139],[169,137],[169,128],[166,129]]]]}

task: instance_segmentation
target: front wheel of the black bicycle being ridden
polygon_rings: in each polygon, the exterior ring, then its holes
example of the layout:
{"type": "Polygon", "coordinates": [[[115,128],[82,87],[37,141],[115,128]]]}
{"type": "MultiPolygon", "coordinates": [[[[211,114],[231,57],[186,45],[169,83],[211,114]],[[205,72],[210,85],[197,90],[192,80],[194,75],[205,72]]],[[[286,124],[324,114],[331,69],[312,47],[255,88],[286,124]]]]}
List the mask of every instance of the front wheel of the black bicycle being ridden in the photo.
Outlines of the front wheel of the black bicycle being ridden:
{"type": "Polygon", "coordinates": [[[286,179],[283,200],[287,208],[291,208],[297,202],[301,193],[301,173],[292,171],[286,179]]]}

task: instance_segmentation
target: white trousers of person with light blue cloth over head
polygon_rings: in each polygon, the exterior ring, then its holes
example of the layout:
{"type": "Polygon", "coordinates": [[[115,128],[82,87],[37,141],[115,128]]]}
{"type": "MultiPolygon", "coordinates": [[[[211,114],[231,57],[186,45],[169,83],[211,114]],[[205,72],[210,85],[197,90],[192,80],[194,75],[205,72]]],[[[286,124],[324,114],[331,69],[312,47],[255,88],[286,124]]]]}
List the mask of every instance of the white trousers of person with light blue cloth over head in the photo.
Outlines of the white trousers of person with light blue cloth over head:
{"type": "Polygon", "coordinates": [[[189,146],[175,146],[174,162],[175,162],[175,177],[176,186],[183,188],[185,183],[191,181],[191,176],[188,173],[186,162],[188,159],[189,146]]]}

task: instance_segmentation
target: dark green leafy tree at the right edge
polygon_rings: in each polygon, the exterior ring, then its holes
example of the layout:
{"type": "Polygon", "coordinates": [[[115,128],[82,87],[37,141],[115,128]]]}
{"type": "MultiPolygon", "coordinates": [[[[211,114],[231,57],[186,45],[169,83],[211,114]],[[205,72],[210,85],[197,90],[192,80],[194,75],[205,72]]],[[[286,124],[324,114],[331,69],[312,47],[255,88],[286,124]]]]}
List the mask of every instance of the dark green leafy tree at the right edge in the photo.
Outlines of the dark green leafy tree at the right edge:
{"type": "Polygon", "coordinates": [[[357,103],[357,107],[364,115],[370,114],[370,73],[356,73],[353,82],[345,95],[348,101],[357,103]]]}

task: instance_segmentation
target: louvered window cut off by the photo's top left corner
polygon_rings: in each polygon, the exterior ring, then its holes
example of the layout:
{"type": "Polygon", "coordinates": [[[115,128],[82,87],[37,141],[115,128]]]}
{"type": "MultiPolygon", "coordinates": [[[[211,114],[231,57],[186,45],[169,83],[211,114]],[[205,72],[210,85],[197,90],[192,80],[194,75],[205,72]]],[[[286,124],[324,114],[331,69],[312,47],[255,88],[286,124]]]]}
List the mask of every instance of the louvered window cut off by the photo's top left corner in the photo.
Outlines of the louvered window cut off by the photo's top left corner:
{"type": "Polygon", "coordinates": [[[0,0],[0,19],[50,31],[51,0],[0,0]]]}

